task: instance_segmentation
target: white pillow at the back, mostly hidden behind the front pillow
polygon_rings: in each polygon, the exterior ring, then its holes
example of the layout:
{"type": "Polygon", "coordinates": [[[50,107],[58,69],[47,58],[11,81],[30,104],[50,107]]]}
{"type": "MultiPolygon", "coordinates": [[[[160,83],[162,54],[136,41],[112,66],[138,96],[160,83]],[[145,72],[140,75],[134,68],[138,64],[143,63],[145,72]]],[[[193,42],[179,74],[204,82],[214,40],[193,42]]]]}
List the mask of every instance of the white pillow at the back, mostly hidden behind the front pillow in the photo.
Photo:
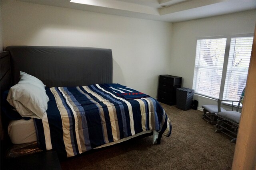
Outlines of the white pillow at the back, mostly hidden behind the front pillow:
{"type": "Polygon", "coordinates": [[[18,83],[30,83],[45,90],[45,85],[41,80],[23,71],[20,71],[20,81],[18,83]]]}

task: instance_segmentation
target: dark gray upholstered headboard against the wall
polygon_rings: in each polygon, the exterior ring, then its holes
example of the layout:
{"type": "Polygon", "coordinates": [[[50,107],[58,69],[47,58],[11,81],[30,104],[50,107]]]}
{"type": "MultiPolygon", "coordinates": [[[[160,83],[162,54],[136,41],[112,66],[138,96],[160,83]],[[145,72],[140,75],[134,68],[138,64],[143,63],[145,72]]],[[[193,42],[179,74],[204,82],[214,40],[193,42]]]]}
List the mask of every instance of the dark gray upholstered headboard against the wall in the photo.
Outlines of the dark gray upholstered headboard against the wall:
{"type": "Polygon", "coordinates": [[[90,47],[9,46],[12,84],[24,71],[48,87],[112,83],[112,51],[90,47]]]}

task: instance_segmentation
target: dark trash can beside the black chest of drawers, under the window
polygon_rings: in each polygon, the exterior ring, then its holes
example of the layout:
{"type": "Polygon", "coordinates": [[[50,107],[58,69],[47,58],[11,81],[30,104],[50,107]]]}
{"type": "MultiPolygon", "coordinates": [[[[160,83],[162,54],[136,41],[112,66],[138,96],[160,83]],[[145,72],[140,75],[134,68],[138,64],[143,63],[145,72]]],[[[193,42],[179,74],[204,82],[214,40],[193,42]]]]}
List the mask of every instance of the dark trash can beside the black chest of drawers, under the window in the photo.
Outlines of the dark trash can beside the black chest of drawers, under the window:
{"type": "Polygon", "coordinates": [[[177,88],[176,99],[177,108],[182,110],[188,110],[191,108],[192,100],[194,96],[194,90],[190,88],[177,88]]]}

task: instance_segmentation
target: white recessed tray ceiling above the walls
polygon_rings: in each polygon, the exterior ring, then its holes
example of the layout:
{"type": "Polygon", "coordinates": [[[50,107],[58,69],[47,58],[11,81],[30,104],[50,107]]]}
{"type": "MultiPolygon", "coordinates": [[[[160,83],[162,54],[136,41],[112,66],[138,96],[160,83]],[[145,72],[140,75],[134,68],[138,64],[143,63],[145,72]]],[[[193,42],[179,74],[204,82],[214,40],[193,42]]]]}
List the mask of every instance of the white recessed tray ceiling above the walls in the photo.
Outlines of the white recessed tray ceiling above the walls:
{"type": "Polygon", "coordinates": [[[146,20],[180,22],[256,9],[256,0],[24,0],[146,20]],[[79,3],[82,4],[79,4],[79,3]]]}

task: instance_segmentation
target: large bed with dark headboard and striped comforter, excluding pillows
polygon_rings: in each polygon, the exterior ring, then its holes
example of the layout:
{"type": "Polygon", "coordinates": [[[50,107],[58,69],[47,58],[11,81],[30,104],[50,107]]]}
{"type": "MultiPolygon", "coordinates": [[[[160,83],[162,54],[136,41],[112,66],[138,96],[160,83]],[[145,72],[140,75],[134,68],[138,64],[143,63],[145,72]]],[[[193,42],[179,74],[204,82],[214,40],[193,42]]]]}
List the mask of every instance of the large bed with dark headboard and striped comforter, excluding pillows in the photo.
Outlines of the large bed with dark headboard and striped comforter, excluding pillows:
{"type": "Polygon", "coordinates": [[[12,143],[36,140],[42,150],[70,157],[145,134],[160,144],[162,135],[171,134],[170,119],[154,98],[112,82],[111,49],[6,47],[1,53],[1,96],[22,84],[21,72],[44,83],[48,108],[29,120],[9,121],[1,111],[12,143]]]}

